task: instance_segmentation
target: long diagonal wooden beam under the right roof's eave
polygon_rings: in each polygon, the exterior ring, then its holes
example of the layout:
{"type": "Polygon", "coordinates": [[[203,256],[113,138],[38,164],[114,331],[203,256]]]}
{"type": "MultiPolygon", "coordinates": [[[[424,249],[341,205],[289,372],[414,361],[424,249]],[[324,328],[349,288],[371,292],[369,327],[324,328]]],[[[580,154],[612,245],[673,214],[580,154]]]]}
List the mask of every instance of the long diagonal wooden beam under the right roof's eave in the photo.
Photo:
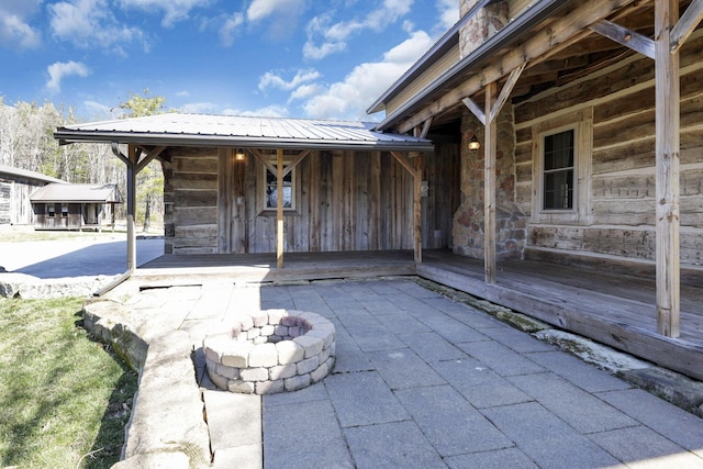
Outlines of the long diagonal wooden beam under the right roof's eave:
{"type": "Polygon", "coordinates": [[[442,114],[453,108],[464,97],[472,96],[483,88],[484,83],[498,81],[505,75],[524,63],[547,54],[550,49],[559,47],[568,42],[572,36],[583,33],[584,27],[593,24],[612,14],[634,0],[613,0],[607,2],[589,1],[583,2],[570,14],[559,18],[548,27],[532,34],[522,44],[512,46],[511,49],[493,62],[491,65],[468,77],[464,82],[454,87],[443,96],[420,109],[413,116],[398,125],[400,133],[405,133],[414,126],[420,125],[427,119],[442,114]]]}

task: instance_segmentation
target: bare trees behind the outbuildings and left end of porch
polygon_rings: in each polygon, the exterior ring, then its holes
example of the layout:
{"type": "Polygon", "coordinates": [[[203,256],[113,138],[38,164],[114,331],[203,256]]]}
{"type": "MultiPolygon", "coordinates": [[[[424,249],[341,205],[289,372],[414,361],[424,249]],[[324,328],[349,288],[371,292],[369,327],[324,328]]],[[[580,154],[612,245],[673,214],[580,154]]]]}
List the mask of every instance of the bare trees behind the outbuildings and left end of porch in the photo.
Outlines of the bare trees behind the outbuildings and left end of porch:
{"type": "MultiPolygon", "coordinates": [[[[123,116],[164,112],[166,99],[131,93],[120,103],[123,116]]],[[[52,176],[71,183],[116,183],[126,199],[126,167],[105,144],[59,145],[54,138],[57,127],[80,123],[71,109],[52,102],[37,104],[19,101],[7,104],[0,97],[0,164],[52,176]]],[[[152,161],[137,177],[136,223],[148,230],[163,222],[164,175],[159,161],[152,161]]],[[[126,200],[125,200],[126,202],[126,200]]],[[[116,205],[124,219],[124,204],[116,205]]]]}

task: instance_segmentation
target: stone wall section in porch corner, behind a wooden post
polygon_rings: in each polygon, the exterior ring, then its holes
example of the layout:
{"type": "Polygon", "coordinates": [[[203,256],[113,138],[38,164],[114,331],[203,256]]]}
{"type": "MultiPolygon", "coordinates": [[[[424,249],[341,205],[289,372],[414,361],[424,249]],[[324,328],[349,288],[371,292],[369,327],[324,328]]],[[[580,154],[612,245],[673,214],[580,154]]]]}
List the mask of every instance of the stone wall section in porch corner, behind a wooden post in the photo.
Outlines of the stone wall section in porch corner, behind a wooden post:
{"type": "MultiPolygon", "coordinates": [[[[527,220],[515,204],[515,133],[513,112],[505,104],[498,118],[496,152],[496,246],[499,259],[521,258],[526,242],[527,220]]],[[[454,214],[453,250],[455,254],[483,258],[483,125],[465,112],[461,120],[461,204],[454,214]],[[478,150],[468,149],[476,135],[478,150]]]]}

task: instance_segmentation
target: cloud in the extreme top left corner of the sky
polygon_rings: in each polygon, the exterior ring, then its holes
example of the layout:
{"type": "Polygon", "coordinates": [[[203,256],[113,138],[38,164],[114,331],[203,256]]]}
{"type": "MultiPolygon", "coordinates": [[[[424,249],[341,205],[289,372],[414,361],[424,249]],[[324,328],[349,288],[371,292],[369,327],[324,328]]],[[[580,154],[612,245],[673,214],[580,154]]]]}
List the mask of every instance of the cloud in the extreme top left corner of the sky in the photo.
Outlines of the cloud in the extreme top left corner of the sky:
{"type": "Polygon", "coordinates": [[[4,0],[0,4],[0,45],[25,49],[41,44],[41,33],[27,22],[41,3],[41,0],[4,0]]]}

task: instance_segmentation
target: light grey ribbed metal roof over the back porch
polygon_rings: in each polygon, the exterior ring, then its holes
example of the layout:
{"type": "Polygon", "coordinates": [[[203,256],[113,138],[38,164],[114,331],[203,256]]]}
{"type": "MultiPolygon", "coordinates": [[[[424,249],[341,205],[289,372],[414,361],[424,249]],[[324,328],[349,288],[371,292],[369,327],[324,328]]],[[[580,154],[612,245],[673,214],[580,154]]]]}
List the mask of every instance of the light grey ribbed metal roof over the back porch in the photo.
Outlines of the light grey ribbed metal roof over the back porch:
{"type": "Polygon", "coordinates": [[[59,127],[62,144],[130,143],[301,149],[431,152],[431,141],[375,131],[375,123],[309,119],[167,113],[59,127]]]}

